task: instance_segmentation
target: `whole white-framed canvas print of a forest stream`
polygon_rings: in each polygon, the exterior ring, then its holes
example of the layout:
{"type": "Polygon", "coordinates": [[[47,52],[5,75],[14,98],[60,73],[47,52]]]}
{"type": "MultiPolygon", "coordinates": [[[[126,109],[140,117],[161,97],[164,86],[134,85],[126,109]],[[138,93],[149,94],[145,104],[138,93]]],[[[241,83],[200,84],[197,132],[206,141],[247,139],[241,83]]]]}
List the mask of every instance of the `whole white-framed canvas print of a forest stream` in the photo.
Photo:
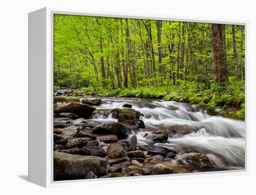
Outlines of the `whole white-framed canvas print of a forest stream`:
{"type": "Polygon", "coordinates": [[[29,181],[237,174],[247,23],[29,13],[29,181]]]}

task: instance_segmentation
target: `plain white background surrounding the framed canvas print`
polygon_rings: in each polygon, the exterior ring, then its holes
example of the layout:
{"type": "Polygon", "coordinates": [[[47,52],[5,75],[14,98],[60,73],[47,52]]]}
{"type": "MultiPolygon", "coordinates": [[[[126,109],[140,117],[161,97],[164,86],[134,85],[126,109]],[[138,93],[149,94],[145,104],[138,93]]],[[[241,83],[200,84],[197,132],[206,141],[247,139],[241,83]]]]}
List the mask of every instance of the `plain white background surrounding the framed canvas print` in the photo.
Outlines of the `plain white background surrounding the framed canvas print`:
{"type": "MultiPolygon", "coordinates": [[[[256,6],[253,0],[4,0],[0,11],[0,194],[254,194],[256,6]],[[249,175],[43,189],[27,182],[27,13],[51,6],[129,13],[250,21],[248,32],[247,107],[249,175]],[[254,181],[253,181],[254,180],[254,181]]],[[[40,139],[40,138],[39,138],[40,139]]]]}

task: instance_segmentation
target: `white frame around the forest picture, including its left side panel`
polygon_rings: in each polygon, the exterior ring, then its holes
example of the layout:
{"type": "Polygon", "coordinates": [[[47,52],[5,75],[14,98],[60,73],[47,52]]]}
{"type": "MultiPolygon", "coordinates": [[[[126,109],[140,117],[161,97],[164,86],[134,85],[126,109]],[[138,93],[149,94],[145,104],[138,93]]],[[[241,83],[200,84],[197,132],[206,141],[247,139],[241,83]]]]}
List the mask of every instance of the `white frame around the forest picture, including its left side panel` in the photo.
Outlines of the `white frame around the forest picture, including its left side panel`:
{"type": "MultiPolygon", "coordinates": [[[[232,19],[205,19],[195,17],[176,17],[141,13],[99,12],[74,9],[45,7],[29,13],[29,182],[43,187],[85,186],[113,184],[123,182],[149,182],[172,179],[193,179],[218,176],[249,174],[249,131],[246,125],[245,170],[183,173],[157,176],[102,178],[96,180],[53,181],[53,15],[74,14],[87,16],[105,16],[116,18],[162,19],[202,23],[245,25],[245,80],[246,80],[246,116],[248,116],[248,38],[249,21],[232,19]],[[36,33],[35,33],[36,31],[36,33]],[[39,102],[39,103],[38,103],[39,102]],[[38,126],[40,124],[41,126],[38,126]],[[39,137],[39,139],[38,139],[39,137]],[[37,139],[36,139],[37,138],[37,139]],[[41,138],[41,139],[40,139],[41,138]],[[40,168],[40,169],[39,169],[40,168]]],[[[249,119],[246,117],[246,124],[249,119]]]]}

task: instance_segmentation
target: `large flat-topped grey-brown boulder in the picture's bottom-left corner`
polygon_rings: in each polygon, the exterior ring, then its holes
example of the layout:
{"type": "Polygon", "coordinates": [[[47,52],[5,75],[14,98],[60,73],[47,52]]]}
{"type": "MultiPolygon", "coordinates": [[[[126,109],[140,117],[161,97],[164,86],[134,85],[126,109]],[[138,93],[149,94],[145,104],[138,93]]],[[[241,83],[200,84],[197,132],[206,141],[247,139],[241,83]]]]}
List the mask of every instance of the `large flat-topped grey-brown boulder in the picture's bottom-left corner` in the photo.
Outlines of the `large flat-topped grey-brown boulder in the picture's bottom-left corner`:
{"type": "Polygon", "coordinates": [[[54,151],[54,181],[84,179],[90,171],[102,176],[106,170],[105,158],[54,151]]]}

